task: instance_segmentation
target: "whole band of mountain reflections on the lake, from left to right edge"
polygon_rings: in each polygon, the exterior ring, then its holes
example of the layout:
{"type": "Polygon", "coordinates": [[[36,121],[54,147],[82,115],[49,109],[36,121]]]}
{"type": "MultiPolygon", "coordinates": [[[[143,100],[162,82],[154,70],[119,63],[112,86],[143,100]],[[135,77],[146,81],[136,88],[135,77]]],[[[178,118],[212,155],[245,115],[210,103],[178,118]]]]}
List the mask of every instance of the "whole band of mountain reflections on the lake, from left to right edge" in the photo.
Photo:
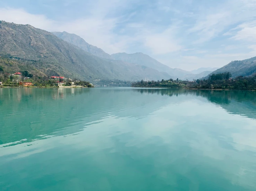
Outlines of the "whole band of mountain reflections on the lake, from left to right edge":
{"type": "Polygon", "coordinates": [[[0,107],[6,108],[0,110],[0,144],[75,133],[110,116],[144,118],[168,104],[205,98],[230,113],[256,119],[256,93],[250,91],[0,89],[0,107]]]}

